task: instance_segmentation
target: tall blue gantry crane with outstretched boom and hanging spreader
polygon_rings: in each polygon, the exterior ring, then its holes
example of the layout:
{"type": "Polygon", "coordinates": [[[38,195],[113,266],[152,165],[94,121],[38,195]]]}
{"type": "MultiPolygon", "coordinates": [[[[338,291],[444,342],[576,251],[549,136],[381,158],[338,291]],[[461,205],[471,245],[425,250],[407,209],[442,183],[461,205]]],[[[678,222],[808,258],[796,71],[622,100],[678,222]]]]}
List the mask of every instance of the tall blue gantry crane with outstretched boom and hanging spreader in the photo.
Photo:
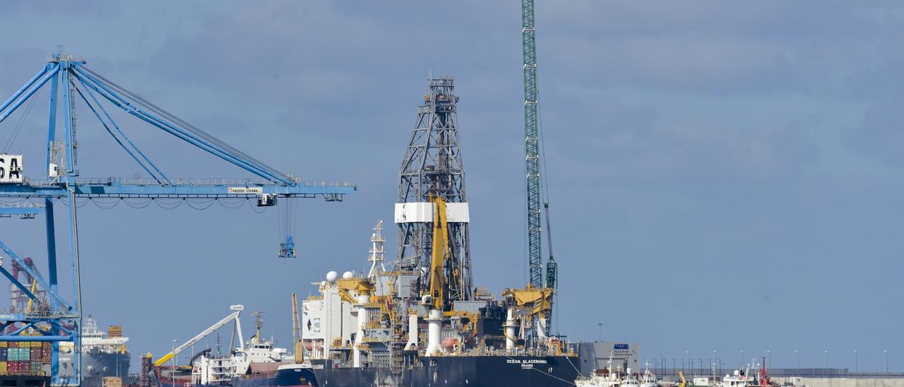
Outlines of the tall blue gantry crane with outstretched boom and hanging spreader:
{"type": "MultiPolygon", "coordinates": [[[[33,219],[43,214],[46,222],[48,276],[44,280],[0,241],[0,273],[38,307],[24,313],[0,315],[0,341],[51,342],[52,384],[80,383],[80,326],[81,292],[79,265],[79,229],[77,204],[80,201],[156,201],[163,203],[200,203],[204,201],[254,202],[258,206],[272,206],[278,200],[320,196],[327,201],[341,201],[344,194],[356,189],[350,183],[308,183],[286,175],[260,160],[242,153],[219,138],[143,99],[117,83],[90,70],[86,61],[60,51],[54,53],[41,71],[10,99],[0,105],[0,123],[16,109],[24,106],[42,88],[50,89],[46,159],[40,177],[24,176],[22,156],[0,154],[0,216],[33,219]],[[99,126],[116,140],[138,165],[150,176],[148,179],[82,178],[78,168],[76,140],[76,103],[83,105],[83,114],[97,118],[99,126]],[[165,175],[118,126],[108,108],[121,109],[128,115],[145,121],[188,144],[236,165],[256,178],[231,180],[177,179],[165,175]],[[58,118],[58,116],[61,116],[58,118]],[[58,120],[61,125],[58,128],[58,120]],[[65,296],[59,288],[57,262],[57,233],[54,224],[54,204],[63,204],[68,212],[69,255],[72,294],[65,296]],[[6,262],[4,262],[6,260],[6,262]],[[22,284],[6,269],[13,260],[35,278],[37,286],[49,295],[46,299],[34,295],[31,284],[22,284]],[[22,335],[24,332],[39,335],[22,335]],[[75,373],[60,373],[60,343],[73,342],[75,373]]],[[[286,201],[288,202],[288,201],[286,201]]],[[[110,203],[110,202],[106,202],[110,203]]],[[[206,208],[206,207],[205,207],[206,208]]],[[[287,218],[292,213],[287,212],[287,218]]],[[[289,222],[283,220],[282,222],[289,222]]],[[[295,257],[292,235],[286,233],[278,255],[295,257]]]]}

